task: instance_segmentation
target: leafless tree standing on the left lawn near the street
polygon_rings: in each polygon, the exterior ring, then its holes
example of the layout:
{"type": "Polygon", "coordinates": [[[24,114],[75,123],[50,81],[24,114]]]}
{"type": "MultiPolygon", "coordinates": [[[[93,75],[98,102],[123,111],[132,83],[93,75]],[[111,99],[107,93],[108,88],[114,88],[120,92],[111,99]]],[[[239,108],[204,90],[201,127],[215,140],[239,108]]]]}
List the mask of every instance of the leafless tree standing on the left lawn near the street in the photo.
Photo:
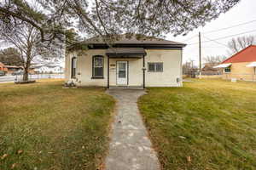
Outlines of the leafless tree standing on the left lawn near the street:
{"type": "Polygon", "coordinates": [[[9,33],[0,31],[0,39],[14,45],[20,53],[21,63],[24,68],[23,81],[28,81],[28,71],[31,68],[32,59],[38,55],[36,45],[39,31],[26,23],[20,24],[9,33]]]}

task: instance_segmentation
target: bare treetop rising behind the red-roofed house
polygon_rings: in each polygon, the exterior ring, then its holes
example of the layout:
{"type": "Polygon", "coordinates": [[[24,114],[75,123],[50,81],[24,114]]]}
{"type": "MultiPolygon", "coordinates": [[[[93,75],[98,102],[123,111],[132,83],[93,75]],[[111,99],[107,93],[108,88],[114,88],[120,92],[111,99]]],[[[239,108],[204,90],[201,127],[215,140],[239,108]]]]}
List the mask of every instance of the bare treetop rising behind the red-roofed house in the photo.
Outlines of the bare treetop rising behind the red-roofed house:
{"type": "Polygon", "coordinates": [[[236,54],[239,51],[241,51],[241,49],[247,48],[249,45],[253,45],[255,43],[256,43],[255,36],[247,36],[247,37],[244,36],[244,37],[232,38],[230,42],[228,42],[228,47],[230,48],[228,53],[230,55],[236,54]]]}

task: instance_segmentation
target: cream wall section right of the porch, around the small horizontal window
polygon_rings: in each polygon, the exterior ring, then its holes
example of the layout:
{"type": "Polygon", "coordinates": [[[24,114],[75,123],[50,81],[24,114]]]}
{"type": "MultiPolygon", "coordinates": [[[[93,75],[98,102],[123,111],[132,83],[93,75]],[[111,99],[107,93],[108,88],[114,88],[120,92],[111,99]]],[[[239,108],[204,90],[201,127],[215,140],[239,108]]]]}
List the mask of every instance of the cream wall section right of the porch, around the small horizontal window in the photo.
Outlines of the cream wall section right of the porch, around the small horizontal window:
{"type": "Polygon", "coordinates": [[[148,49],[146,52],[146,87],[182,86],[182,50],[148,49]],[[163,72],[148,72],[148,62],[163,62],[163,72]]]}

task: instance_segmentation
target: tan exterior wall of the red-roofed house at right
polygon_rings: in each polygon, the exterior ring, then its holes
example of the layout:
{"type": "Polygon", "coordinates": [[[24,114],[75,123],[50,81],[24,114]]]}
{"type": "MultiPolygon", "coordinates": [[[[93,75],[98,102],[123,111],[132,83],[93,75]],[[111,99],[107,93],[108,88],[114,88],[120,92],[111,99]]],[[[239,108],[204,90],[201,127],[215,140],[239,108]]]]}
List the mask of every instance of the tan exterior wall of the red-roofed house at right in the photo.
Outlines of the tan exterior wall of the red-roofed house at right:
{"type": "Polygon", "coordinates": [[[236,78],[237,80],[256,81],[255,68],[247,67],[251,62],[232,63],[231,72],[224,73],[224,79],[236,78]]]}

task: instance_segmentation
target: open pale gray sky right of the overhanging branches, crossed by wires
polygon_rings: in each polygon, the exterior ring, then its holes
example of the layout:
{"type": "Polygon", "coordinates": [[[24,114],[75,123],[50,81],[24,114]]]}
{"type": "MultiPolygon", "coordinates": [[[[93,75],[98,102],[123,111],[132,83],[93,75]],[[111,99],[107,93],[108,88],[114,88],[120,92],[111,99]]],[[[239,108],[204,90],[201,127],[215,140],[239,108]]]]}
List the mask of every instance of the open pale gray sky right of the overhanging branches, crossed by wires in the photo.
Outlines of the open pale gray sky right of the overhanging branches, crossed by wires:
{"type": "MultiPolygon", "coordinates": [[[[194,43],[193,45],[187,45],[183,50],[183,62],[193,59],[195,64],[198,65],[199,60],[199,45],[198,45],[198,32],[201,31],[201,44],[202,44],[202,58],[210,55],[227,55],[228,48],[225,46],[227,42],[230,41],[232,37],[228,37],[235,34],[240,34],[242,32],[252,31],[240,36],[254,35],[256,36],[256,0],[241,0],[234,8],[231,8],[225,14],[221,14],[218,19],[212,20],[207,23],[206,26],[196,29],[195,31],[189,32],[185,37],[177,36],[172,37],[172,35],[167,35],[166,39],[184,42],[186,44],[194,43]],[[242,26],[236,26],[242,23],[250,22],[242,26]],[[215,31],[221,28],[226,28],[230,26],[236,26],[223,31],[215,31]],[[207,33],[207,31],[215,31],[207,33]],[[205,33],[204,33],[205,32],[205,33]],[[205,36],[205,37],[204,37],[205,36]],[[191,37],[191,38],[190,38],[191,37]],[[224,39],[218,39],[220,37],[227,37],[224,39]],[[218,39],[217,42],[204,42],[209,39],[218,39]],[[189,40],[188,40],[189,39],[189,40]],[[187,41],[186,41],[187,40],[187,41]]],[[[234,37],[240,37],[239,35],[234,37]]],[[[228,56],[229,57],[229,56],[228,56]]]]}

